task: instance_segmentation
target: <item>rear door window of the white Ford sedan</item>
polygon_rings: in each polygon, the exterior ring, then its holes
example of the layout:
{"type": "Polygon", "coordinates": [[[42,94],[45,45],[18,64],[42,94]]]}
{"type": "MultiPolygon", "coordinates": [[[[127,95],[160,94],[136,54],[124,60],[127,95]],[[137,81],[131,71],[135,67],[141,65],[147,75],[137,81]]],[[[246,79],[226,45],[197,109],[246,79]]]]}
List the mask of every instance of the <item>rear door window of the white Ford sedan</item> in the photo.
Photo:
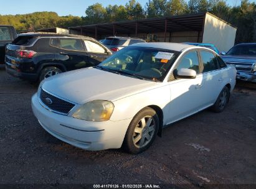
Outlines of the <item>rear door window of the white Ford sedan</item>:
{"type": "Polygon", "coordinates": [[[202,73],[219,69],[217,58],[213,53],[202,50],[200,54],[201,54],[202,63],[204,67],[202,70],[202,73]]]}

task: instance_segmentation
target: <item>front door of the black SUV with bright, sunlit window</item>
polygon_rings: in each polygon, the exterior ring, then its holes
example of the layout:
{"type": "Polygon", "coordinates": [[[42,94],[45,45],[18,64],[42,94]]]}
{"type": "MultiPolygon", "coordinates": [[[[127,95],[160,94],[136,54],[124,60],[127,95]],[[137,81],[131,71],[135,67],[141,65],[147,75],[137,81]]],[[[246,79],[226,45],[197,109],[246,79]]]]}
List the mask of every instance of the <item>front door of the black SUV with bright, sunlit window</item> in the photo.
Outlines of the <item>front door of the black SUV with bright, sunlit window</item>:
{"type": "Polygon", "coordinates": [[[88,63],[91,66],[98,65],[100,62],[110,56],[110,52],[107,48],[103,47],[100,43],[93,40],[83,40],[85,44],[85,50],[88,55],[88,63]]]}

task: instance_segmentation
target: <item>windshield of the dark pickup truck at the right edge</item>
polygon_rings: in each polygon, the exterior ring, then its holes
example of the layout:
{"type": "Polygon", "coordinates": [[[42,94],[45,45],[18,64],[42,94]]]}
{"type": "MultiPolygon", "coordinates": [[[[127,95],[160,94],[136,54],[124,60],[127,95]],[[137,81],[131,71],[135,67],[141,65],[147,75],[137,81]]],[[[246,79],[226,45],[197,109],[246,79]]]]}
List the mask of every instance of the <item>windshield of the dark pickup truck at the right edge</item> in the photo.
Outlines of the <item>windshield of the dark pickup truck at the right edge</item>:
{"type": "Polygon", "coordinates": [[[256,55],[256,44],[244,44],[244,45],[235,45],[232,47],[227,55],[256,55]]]}

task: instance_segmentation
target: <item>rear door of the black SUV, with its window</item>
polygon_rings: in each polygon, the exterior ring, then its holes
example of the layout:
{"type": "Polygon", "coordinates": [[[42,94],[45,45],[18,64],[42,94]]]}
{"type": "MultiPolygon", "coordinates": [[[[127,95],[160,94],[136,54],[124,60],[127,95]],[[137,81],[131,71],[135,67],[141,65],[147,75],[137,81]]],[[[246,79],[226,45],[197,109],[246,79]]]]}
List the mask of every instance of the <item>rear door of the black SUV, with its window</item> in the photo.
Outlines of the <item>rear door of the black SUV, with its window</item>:
{"type": "Polygon", "coordinates": [[[91,66],[82,39],[54,37],[50,40],[50,45],[57,48],[57,60],[67,71],[91,66]]]}

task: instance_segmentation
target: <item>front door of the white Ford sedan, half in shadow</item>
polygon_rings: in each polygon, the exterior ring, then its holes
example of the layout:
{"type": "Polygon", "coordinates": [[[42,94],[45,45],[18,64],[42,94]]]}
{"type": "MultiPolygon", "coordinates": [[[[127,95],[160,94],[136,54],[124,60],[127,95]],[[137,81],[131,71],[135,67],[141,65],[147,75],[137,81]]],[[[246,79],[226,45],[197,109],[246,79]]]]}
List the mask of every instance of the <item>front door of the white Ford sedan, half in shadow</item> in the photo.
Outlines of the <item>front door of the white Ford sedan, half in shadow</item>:
{"type": "Polygon", "coordinates": [[[173,74],[170,76],[169,90],[171,91],[171,101],[169,103],[168,123],[194,113],[206,103],[206,97],[202,93],[204,80],[199,67],[199,55],[196,50],[187,52],[179,60],[174,71],[181,68],[195,70],[197,76],[194,79],[176,79],[173,74]]]}

